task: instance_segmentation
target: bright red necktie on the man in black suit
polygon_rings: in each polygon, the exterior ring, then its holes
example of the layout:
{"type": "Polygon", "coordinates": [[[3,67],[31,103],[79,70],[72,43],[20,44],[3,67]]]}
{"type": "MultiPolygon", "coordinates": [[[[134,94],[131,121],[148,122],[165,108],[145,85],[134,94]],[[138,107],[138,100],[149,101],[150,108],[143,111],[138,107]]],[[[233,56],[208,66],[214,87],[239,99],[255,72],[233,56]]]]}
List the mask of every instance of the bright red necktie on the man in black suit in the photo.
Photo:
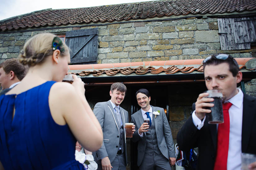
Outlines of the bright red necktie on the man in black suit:
{"type": "Polygon", "coordinates": [[[231,106],[232,103],[230,102],[222,104],[224,123],[218,125],[218,143],[214,170],[227,170],[227,154],[230,128],[228,110],[231,106]]]}

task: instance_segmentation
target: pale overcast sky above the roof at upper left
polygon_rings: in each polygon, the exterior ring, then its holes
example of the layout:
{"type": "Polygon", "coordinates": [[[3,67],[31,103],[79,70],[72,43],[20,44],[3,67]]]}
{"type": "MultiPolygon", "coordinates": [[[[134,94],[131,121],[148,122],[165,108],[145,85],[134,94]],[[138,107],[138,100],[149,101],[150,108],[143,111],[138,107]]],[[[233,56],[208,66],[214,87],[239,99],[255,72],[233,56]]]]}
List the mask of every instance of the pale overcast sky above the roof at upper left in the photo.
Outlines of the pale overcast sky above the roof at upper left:
{"type": "Polygon", "coordinates": [[[0,0],[0,20],[43,9],[96,7],[149,0],[0,0]]]}

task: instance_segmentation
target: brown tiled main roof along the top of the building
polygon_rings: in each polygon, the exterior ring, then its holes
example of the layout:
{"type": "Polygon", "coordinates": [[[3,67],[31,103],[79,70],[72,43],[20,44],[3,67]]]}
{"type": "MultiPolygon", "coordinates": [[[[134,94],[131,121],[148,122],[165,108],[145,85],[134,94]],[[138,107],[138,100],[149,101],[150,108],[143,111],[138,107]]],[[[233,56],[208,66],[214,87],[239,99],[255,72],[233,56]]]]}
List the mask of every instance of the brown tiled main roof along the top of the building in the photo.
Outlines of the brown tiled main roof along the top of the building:
{"type": "Polygon", "coordinates": [[[21,19],[4,21],[2,31],[33,28],[40,26],[81,24],[89,22],[121,21],[188,14],[216,14],[252,11],[256,9],[255,0],[169,0],[106,5],[99,7],[43,10],[21,19]]]}

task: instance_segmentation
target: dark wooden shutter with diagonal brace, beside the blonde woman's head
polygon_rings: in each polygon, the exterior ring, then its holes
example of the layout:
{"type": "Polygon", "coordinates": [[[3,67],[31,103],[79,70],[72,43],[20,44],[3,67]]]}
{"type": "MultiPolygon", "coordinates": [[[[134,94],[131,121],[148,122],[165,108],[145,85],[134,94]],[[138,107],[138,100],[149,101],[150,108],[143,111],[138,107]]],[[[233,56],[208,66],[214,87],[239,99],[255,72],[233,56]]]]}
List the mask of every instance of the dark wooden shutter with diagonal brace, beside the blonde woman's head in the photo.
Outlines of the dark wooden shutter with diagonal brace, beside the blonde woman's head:
{"type": "Polygon", "coordinates": [[[98,28],[66,32],[65,43],[71,49],[70,64],[96,64],[98,28]]]}

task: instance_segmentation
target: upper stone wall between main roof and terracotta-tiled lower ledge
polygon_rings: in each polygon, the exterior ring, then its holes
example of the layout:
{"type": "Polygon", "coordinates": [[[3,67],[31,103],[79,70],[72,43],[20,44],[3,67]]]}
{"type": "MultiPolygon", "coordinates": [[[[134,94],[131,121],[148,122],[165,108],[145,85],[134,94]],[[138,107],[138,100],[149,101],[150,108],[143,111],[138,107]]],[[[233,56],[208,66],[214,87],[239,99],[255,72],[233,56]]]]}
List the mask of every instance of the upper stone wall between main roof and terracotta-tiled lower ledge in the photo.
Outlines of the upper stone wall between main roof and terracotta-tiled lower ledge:
{"type": "MultiPolygon", "coordinates": [[[[179,19],[113,23],[98,26],[47,29],[28,32],[0,33],[0,63],[16,58],[25,41],[38,33],[65,32],[98,28],[97,63],[124,63],[155,60],[202,59],[215,53],[231,54],[234,58],[256,57],[256,50],[220,50],[216,18],[179,19]]],[[[103,23],[104,24],[104,23],[103,23]]],[[[256,96],[255,80],[245,85],[256,96]]]]}

